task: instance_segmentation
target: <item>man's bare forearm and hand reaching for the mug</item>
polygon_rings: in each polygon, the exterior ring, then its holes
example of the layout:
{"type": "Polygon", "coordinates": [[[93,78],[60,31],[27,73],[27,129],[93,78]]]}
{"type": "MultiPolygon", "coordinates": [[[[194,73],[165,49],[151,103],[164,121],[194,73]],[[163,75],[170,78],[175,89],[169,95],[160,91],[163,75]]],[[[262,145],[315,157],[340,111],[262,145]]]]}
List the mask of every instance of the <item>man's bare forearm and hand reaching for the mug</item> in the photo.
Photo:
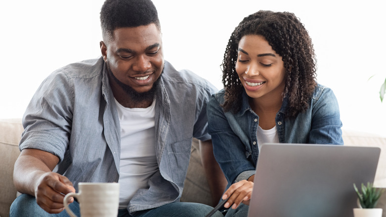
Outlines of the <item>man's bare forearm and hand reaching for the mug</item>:
{"type": "Polygon", "coordinates": [[[16,190],[35,196],[38,205],[48,213],[63,211],[64,196],[75,192],[67,177],[52,172],[58,162],[59,158],[48,152],[24,149],[13,170],[16,190]]]}

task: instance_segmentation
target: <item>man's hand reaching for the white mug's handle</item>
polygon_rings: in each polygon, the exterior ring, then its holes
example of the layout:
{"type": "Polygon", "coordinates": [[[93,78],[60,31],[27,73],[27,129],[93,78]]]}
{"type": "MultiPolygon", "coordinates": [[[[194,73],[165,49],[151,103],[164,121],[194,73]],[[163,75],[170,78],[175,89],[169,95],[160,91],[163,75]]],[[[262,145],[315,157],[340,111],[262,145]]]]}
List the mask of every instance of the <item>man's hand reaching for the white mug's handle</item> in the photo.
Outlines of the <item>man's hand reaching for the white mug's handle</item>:
{"type": "MultiPolygon", "coordinates": [[[[71,192],[75,192],[75,188],[67,177],[55,172],[47,172],[41,176],[35,188],[36,202],[48,213],[60,213],[64,210],[64,196],[71,192]]],[[[74,202],[73,198],[69,203],[72,202],[74,202]]]]}

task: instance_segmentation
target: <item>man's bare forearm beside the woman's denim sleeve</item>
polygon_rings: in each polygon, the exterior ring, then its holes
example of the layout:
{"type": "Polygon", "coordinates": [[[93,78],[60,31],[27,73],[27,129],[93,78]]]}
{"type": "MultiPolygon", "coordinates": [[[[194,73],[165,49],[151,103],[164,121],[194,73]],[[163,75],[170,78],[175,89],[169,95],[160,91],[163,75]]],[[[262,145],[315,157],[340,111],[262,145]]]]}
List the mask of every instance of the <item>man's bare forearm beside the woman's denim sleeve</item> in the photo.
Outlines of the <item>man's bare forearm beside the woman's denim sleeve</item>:
{"type": "Polygon", "coordinates": [[[212,140],[199,141],[199,149],[201,162],[212,195],[212,206],[216,206],[227,186],[227,179],[214,158],[212,140]]]}

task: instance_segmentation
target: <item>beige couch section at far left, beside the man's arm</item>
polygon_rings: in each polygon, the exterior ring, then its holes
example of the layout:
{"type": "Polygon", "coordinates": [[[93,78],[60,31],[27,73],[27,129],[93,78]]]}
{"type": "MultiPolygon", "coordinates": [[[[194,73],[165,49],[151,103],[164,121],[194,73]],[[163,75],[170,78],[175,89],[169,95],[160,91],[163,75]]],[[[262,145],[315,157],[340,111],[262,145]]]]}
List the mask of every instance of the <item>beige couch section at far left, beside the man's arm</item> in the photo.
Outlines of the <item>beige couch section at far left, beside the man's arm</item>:
{"type": "Polygon", "coordinates": [[[23,132],[21,119],[0,119],[0,216],[9,215],[16,198],[13,185],[13,165],[20,154],[18,145],[23,132]]]}

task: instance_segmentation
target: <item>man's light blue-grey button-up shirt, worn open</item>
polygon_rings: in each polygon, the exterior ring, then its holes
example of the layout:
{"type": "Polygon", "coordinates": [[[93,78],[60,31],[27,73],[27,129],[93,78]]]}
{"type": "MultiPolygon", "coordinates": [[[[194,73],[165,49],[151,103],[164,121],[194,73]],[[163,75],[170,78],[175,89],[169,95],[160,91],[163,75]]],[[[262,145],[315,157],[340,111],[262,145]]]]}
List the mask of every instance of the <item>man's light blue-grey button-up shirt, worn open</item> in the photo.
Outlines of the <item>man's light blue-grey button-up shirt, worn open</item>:
{"type": "MultiPolygon", "coordinates": [[[[192,138],[208,134],[206,105],[217,90],[190,71],[165,61],[155,104],[158,172],[130,201],[130,213],[179,201],[192,138]]],[[[103,58],[64,66],[46,78],[24,116],[19,145],[59,158],[57,171],[72,181],[118,182],[120,123],[103,58]]],[[[120,186],[129,188],[130,186],[120,186]]]]}

